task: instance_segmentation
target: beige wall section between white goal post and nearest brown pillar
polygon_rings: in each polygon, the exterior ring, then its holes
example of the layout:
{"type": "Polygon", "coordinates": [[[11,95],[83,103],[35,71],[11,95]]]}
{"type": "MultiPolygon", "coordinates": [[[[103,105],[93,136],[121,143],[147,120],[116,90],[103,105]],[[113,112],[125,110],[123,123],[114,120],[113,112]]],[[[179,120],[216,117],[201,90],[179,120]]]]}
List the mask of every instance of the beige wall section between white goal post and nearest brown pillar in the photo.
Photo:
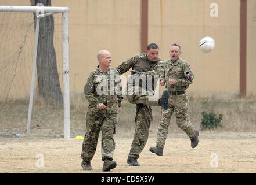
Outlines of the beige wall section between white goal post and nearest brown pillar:
{"type": "Polygon", "coordinates": [[[112,66],[139,53],[140,1],[52,0],[52,6],[70,8],[70,92],[83,92],[99,50],[110,51],[112,66]]]}

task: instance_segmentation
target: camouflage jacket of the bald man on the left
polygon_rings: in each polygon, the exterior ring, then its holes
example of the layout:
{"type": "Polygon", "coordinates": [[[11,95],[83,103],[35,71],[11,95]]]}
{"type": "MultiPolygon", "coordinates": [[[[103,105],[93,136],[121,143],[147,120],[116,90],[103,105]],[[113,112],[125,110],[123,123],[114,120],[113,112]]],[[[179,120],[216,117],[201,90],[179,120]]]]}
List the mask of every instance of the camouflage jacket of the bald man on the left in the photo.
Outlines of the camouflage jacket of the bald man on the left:
{"type": "Polygon", "coordinates": [[[118,106],[122,101],[122,86],[116,68],[109,68],[104,72],[99,68],[93,70],[84,86],[84,94],[89,102],[90,114],[118,113],[118,106]],[[99,109],[100,103],[107,109],[99,109]]]}

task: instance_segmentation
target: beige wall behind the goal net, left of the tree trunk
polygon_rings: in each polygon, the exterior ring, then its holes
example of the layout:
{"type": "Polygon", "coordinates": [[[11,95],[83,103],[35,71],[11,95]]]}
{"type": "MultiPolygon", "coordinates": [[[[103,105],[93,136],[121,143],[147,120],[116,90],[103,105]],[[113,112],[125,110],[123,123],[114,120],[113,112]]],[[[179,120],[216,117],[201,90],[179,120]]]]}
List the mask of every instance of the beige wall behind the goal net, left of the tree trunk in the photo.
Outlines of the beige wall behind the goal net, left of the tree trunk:
{"type": "MultiPolygon", "coordinates": [[[[6,6],[17,3],[0,1],[6,6]]],[[[32,13],[0,13],[0,101],[29,95],[34,45],[31,23],[32,13]]]]}

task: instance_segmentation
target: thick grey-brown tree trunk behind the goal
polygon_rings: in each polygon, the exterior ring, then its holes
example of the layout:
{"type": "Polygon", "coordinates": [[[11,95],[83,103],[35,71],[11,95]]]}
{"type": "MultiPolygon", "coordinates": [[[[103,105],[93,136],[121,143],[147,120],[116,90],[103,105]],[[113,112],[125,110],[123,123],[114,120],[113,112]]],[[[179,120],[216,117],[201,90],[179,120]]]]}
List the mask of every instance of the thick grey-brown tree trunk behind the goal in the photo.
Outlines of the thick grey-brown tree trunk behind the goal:
{"type": "MultiPolygon", "coordinates": [[[[30,2],[31,6],[37,5],[37,3],[42,3],[44,6],[51,6],[51,0],[30,0],[30,2]]],[[[34,20],[35,18],[34,13],[34,20]]],[[[37,47],[38,95],[45,100],[63,103],[56,64],[56,53],[53,46],[53,33],[53,16],[42,17],[40,19],[37,47]]]]}

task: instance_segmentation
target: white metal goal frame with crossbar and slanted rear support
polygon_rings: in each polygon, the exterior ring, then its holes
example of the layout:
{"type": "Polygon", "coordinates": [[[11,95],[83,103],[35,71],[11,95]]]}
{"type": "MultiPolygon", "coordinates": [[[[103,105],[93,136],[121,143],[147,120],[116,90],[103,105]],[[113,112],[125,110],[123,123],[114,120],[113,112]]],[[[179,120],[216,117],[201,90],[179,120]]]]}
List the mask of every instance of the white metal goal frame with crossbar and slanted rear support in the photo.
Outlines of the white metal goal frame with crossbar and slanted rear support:
{"type": "MultiPolygon", "coordinates": [[[[41,17],[49,16],[55,13],[62,13],[62,58],[63,58],[63,108],[64,108],[64,138],[70,138],[70,87],[69,87],[69,46],[68,46],[68,7],[53,6],[0,6],[0,12],[32,12],[37,14],[37,26],[39,29],[39,20],[41,17]]],[[[33,75],[31,78],[30,108],[28,113],[27,135],[30,135],[31,109],[33,101],[34,70],[35,60],[37,58],[38,30],[35,31],[35,50],[33,61],[33,75]],[[31,98],[32,97],[32,98],[31,98]]],[[[32,60],[32,58],[31,58],[32,60]]]]}

